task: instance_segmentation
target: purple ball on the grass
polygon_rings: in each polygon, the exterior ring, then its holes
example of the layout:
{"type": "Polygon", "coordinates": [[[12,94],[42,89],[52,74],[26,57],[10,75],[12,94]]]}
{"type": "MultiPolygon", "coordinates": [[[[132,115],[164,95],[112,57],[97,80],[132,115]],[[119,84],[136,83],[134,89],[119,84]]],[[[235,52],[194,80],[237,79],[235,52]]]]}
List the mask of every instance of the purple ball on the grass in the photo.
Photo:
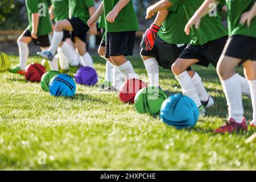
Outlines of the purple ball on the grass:
{"type": "Polygon", "coordinates": [[[93,86],[98,81],[98,76],[92,67],[81,67],[75,74],[77,84],[93,86]]]}

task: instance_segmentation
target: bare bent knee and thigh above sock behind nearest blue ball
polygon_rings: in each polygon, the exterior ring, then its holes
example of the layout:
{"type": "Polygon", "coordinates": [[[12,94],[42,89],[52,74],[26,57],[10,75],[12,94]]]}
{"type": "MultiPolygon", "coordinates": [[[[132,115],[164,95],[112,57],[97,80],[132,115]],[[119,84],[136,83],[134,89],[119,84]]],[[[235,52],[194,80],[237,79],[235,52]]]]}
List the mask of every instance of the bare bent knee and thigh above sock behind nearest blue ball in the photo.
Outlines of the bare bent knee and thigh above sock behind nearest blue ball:
{"type": "Polygon", "coordinates": [[[184,71],[186,71],[191,65],[198,63],[197,59],[182,59],[178,58],[174,64],[172,64],[172,72],[174,75],[180,75],[184,71]]]}

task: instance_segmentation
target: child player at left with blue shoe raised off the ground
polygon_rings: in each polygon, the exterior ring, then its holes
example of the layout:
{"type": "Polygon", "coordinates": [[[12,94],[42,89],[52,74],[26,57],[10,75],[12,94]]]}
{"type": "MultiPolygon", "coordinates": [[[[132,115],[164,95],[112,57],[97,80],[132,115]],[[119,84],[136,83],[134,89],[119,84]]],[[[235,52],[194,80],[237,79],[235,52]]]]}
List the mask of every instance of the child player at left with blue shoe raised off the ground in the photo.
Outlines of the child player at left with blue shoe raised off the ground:
{"type": "MultiPolygon", "coordinates": [[[[89,27],[87,21],[95,13],[93,0],[69,0],[71,19],[60,20],[55,24],[55,31],[51,46],[48,51],[38,52],[38,55],[47,60],[52,60],[57,51],[61,40],[64,37],[64,30],[72,31],[72,39],[75,41],[76,48],[81,56],[84,66],[93,67],[92,57],[86,52],[86,37],[89,27]]],[[[93,26],[91,34],[97,34],[96,26],[93,26]]]]}

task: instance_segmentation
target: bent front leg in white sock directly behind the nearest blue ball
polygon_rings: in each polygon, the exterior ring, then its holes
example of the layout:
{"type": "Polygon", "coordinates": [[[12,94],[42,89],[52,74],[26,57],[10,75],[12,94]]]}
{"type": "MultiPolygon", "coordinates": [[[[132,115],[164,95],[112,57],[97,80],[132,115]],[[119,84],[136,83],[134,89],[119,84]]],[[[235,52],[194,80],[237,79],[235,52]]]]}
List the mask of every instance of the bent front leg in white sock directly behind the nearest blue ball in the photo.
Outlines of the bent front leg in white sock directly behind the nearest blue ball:
{"type": "Polygon", "coordinates": [[[196,103],[197,107],[200,107],[202,104],[201,104],[197,89],[193,84],[193,80],[191,78],[192,75],[189,76],[187,72],[187,69],[191,65],[196,64],[197,62],[199,62],[199,60],[179,58],[172,65],[172,72],[174,72],[174,75],[176,76],[177,81],[179,81],[181,88],[183,90],[183,93],[186,96],[192,98],[192,100],[196,103]]]}

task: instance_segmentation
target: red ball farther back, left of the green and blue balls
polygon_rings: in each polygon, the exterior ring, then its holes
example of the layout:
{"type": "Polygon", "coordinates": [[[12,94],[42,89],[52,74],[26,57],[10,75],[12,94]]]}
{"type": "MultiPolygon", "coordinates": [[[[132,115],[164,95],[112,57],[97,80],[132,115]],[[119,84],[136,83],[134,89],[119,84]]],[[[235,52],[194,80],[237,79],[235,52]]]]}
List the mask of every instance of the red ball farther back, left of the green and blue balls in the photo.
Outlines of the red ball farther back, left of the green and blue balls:
{"type": "Polygon", "coordinates": [[[46,73],[46,69],[44,69],[43,65],[32,63],[27,65],[25,69],[25,78],[27,81],[40,82],[44,73],[46,73]]]}

